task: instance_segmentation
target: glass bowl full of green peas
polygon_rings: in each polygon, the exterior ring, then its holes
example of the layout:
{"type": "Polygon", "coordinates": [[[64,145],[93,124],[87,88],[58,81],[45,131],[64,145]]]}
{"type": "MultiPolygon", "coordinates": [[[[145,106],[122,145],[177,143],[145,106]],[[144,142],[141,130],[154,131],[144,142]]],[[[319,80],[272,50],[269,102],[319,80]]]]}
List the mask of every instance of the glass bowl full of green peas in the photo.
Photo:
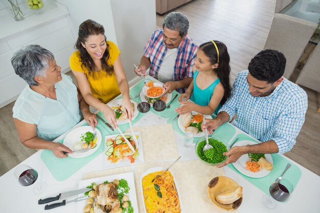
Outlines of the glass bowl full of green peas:
{"type": "Polygon", "coordinates": [[[208,165],[219,165],[224,162],[227,157],[223,155],[229,150],[227,141],[222,138],[217,138],[214,135],[209,135],[209,144],[212,146],[209,150],[203,152],[203,147],[207,144],[205,136],[200,137],[196,143],[195,149],[199,159],[208,165]]]}

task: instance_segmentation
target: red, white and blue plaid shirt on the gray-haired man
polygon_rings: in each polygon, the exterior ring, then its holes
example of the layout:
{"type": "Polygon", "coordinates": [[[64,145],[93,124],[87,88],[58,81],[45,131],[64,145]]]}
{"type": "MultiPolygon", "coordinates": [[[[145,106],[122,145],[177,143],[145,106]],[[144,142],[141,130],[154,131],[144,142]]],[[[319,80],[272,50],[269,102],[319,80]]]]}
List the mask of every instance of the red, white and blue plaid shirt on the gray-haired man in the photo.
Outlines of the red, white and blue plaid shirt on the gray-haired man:
{"type": "MultiPolygon", "coordinates": [[[[150,59],[149,75],[157,78],[163,59],[167,53],[167,47],[163,41],[163,29],[155,30],[144,48],[144,56],[150,59]]],[[[186,36],[177,47],[177,59],[175,61],[174,81],[192,78],[192,65],[194,63],[198,46],[191,38],[186,36]]],[[[176,89],[178,92],[185,92],[186,88],[176,89]]]]}

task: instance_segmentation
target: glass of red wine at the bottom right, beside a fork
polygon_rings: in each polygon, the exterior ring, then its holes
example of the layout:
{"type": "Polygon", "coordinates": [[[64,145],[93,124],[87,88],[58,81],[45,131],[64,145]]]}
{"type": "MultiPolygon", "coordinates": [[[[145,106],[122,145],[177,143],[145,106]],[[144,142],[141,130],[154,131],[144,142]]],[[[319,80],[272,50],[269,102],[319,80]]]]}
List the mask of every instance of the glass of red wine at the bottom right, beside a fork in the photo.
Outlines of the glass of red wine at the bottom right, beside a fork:
{"type": "MultiPolygon", "coordinates": [[[[292,191],[293,185],[287,179],[278,180],[269,187],[271,197],[280,202],[287,201],[292,191]]],[[[271,197],[269,195],[262,196],[263,205],[269,209],[277,207],[277,202],[271,197]]]]}

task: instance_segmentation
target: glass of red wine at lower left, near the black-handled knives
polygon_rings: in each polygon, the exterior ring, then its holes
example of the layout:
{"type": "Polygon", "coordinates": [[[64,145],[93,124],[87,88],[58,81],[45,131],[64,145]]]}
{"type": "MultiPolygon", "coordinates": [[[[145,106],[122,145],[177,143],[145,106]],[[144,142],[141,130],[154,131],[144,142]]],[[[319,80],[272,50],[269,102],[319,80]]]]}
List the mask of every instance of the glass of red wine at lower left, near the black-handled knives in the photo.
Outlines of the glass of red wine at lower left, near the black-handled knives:
{"type": "MultiPolygon", "coordinates": [[[[26,164],[18,165],[13,174],[16,178],[18,178],[18,182],[22,186],[32,185],[38,179],[38,172],[26,164]]],[[[33,193],[39,195],[45,190],[46,187],[47,183],[38,181],[33,188],[33,193]]]]}

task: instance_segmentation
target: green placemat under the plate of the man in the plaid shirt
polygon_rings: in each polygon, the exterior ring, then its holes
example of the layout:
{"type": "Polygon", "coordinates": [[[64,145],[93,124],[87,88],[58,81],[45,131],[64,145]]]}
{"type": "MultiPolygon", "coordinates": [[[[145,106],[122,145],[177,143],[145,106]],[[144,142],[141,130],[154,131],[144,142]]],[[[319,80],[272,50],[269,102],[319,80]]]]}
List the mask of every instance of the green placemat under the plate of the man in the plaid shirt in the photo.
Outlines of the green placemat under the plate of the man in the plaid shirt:
{"type": "MultiPolygon", "coordinates": [[[[141,98],[140,98],[140,96],[138,97],[138,98],[134,98],[138,93],[140,93],[141,92],[141,90],[142,90],[142,87],[144,86],[144,80],[141,80],[138,84],[136,84],[134,87],[132,87],[131,89],[130,89],[130,94],[131,94],[131,97],[133,98],[133,101],[135,101],[137,104],[139,103],[139,102],[141,102],[141,98]]],[[[168,117],[170,117],[173,113],[175,113],[175,109],[177,108],[177,107],[179,107],[180,106],[180,103],[179,103],[179,101],[178,101],[178,98],[179,98],[179,96],[180,96],[180,93],[179,92],[177,92],[177,91],[173,91],[172,92],[172,99],[174,98],[174,96],[176,95],[176,94],[178,94],[178,97],[170,104],[170,108],[169,109],[165,109],[164,111],[162,111],[162,112],[157,112],[157,111],[155,111],[152,107],[151,107],[151,112],[153,112],[153,113],[155,113],[155,114],[161,114],[161,116],[162,117],[164,117],[165,119],[167,119],[168,117]]],[[[171,99],[171,100],[172,100],[171,99]]],[[[169,104],[169,103],[168,103],[169,104]]],[[[167,105],[168,105],[167,104],[167,105]]],[[[99,114],[100,115],[100,114],[99,114]]]]}

